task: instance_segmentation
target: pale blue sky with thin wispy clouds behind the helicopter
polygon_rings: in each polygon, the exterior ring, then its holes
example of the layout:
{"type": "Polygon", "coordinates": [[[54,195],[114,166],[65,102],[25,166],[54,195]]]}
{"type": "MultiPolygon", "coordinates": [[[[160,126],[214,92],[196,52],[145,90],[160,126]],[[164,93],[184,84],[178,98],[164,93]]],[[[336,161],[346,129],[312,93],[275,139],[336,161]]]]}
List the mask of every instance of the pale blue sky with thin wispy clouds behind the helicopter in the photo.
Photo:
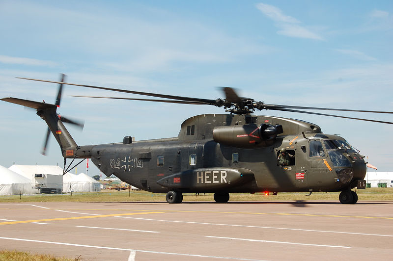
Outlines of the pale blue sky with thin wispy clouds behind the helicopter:
{"type": "MultiPolygon", "coordinates": [[[[58,86],[16,77],[225,98],[217,86],[267,104],[393,111],[393,1],[0,0],[0,98],[54,103],[58,86]]],[[[208,105],[76,98],[144,98],[65,86],[58,112],[78,145],[176,137],[208,105]]],[[[322,112],[323,113],[323,112],[322,112]]],[[[280,111],[340,134],[378,171],[393,171],[393,125],[280,111]]],[[[332,114],[335,114],[332,112],[332,114]]],[[[393,122],[392,114],[336,113],[393,122]]],[[[0,102],[0,165],[63,166],[34,110],[0,102]]],[[[70,160],[68,160],[70,162],[70,160]]],[[[85,172],[79,166],[77,172],[85,172]]],[[[371,169],[374,171],[373,169],[371,169]]],[[[99,174],[93,164],[89,172],[99,174]]]]}

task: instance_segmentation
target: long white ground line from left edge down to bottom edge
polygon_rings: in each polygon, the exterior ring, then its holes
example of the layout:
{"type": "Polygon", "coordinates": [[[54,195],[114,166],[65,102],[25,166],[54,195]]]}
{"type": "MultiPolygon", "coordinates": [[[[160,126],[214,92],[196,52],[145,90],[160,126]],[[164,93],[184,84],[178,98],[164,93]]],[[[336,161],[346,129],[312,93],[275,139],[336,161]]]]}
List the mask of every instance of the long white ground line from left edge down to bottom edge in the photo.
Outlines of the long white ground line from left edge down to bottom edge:
{"type": "MultiPolygon", "coordinates": [[[[54,241],[43,241],[43,240],[23,239],[23,238],[14,238],[14,237],[2,237],[2,236],[0,236],[0,239],[17,240],[17,241],[28,241],[28,242],[37,242],[37,243],[47,243],[47,244],[56,244],[56,245],[77,246],[77,247],[90,247],[90,248],[101,248],[101,249],[111,249],[111,250],[123,250],[123,251],[128,251],[128,252],[135,251],[135,252],[141,252],[141,253],[173,255],[173,256],[186,256],[186,257],[198,257],[198,258],[216,258],[216,259],[230,259],[230,260],[246,260],[246,261],[264,261],[264,260],[258,260],[258,259],[245,259],[245,258],[232,258],[232,257],[219,257],[219,256],[205,256],[205,255],[196,255],[196,254],[170,253],[170,252],[159,252],[159,251],[138,250],[138,249],[128,249],[128,248],[106,247],[106,246],[80,245],[80,244],[72,244],[72,243],[61,243],[61,242],[54,242],[54,241]]],[[[130,255],[131,255],[131,253],[130,253],[130,255]]]]}

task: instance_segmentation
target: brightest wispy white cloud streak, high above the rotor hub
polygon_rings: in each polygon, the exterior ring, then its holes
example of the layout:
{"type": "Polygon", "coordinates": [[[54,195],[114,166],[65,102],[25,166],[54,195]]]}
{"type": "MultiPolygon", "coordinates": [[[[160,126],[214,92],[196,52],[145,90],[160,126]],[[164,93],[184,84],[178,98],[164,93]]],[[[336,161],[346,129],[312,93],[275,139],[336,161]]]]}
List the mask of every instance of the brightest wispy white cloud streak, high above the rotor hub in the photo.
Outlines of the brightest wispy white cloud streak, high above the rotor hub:
{"type": "Polygon", "coordinates": [[[276,6],[258,3],[256,8],[258,8],[265,16],[276,22],[275,26],[280,28],[280,30],[277,32],[278,34],[289,37],[323,40],[322,36],[312,32],[305,26],[300,26],[299,24],[301,22],[299,20],[283,14],[282,11],[276,6]]]}

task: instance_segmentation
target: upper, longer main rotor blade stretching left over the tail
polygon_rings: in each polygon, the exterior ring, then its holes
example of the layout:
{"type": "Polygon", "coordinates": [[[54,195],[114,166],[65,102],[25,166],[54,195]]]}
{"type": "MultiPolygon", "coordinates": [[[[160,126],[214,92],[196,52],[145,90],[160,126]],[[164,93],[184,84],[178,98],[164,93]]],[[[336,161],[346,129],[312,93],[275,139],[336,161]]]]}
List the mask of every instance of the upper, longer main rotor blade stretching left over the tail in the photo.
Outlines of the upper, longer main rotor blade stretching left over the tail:
{"type": "Polygon", "coordinates": [[[59,84],[67,84],[67,85],[81,86],[81,87],[94,88],[94,89],[101,89],[101,90],[108,90],[108,91],[115,91],[115,92],[133,93],[133,94],[139,94],[139,95],[145,95],[145,96],[152,96],[152,97],[159,97],[159,98],[166,98],[166,99],[173,99],[173,100],[180,100],[180,101],[201,102],[201,103],[205,103],[205,104],[210,104],[210,105],[218,106],[218,105],[216,104],[216,100],[211,100],[211,99],[201,99],[201,98],[184,97],[184,96],[175,96],[175,95],[158,94],[158,93],[149,93],[149,92],[138,92],[138,91],[130,91],[130,90],[124,90],[124,89],[115,89],[115,88],[107,88],[107,87],[93,86],[93,85],[84,85],[84,84],[68,83],[68,82],[62,82],[62,81],[41,80],[41,79],[32,79],[32,78],[23,78],[23,77],[17,77],[17,78],[26,79],[26,80],[43,81],[43,82],[52,82],[52,83],[59,83],[59,84]]]}

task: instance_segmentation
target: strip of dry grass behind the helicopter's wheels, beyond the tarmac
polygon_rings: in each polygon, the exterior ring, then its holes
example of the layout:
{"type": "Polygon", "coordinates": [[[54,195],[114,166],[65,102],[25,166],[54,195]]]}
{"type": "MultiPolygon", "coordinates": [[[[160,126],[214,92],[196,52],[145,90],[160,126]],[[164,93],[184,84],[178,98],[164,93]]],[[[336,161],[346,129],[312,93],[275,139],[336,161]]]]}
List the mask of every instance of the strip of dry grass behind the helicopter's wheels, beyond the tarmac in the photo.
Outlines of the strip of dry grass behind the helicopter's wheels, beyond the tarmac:
{"type": "MultiPolygon", "coordinates": [[[[359,201],[393,201],[393,188],[367,188],[356,191],[359,201]]],[[[306,192],[279,193],[277,196],[264,193],[231,193],[229,201],[338,201],[339,192],[312,193],[306,196],[306,192]]],[[[65,193],[58,195],[14,195],[0,196],[0,202],[138,202],[138,201],[163,201],[165,194],[155,194],[146,191],[128,190],[102,190],[91,193],[65,193]]],[[[184,194],[183,202],[187,201],[214,201],[213,193],[207,194],[184,194]]]]}

